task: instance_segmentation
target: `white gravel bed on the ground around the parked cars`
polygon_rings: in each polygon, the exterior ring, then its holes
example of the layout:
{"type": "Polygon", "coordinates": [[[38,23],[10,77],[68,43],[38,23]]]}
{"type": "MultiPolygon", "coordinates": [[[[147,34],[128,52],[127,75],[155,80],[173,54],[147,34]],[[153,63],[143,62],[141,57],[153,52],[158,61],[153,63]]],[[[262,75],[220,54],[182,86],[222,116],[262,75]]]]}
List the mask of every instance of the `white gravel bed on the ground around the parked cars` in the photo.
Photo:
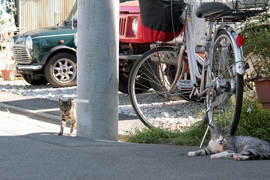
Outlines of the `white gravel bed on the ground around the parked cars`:
{"type": "MultiPolygon", "coordinates": [[[[50,85],[30,85],[23,79],[3,81],[0,78],[0,91],[8,91],[19,95],[29,95],[56,101],[59,97],[62,99],[76,98],[76,86],[55,88],[50,85]]],[[[184,100],[165,102],[157,101],[155,97],[156,93],[155,95],[143,93],[137,96],[137,100],[143,102],[141,109],[143,113],[145,113],[144,115],[153,123],[158,123],[157,125],[164,126],[164,124],[169,123],[173,125],[174,128],[186,127],[196,121],[196,117],[192,115],[193,111],[198,112],[202,110],[197,110],[200,107],[196,108],[194,103],[186,103],[184,100]],[[188,113],[186,114],[186,112],[188,113]]],[[[119,92],[118,99],[119,113],[136,115],[127,94],[119,92]]]]}

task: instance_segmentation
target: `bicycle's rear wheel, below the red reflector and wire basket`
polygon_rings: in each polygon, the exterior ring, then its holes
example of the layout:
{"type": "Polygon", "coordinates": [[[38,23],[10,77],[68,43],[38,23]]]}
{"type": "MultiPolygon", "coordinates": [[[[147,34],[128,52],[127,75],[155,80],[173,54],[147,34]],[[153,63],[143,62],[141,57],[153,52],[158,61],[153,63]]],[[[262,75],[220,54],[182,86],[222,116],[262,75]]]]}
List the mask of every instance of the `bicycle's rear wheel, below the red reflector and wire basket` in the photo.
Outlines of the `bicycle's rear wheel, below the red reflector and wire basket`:
{"type": "Polygon", "coordinates": [[[206,106],[211,107],[209,120],[216,126],[231,124],[231,135],[238,126],[243,97],[243,75],[236,73],[233,49],[230,36],[220,30],[214,41],[212,65],[206,73],[206,83],[213,89],[206,94],[206,106]]]}

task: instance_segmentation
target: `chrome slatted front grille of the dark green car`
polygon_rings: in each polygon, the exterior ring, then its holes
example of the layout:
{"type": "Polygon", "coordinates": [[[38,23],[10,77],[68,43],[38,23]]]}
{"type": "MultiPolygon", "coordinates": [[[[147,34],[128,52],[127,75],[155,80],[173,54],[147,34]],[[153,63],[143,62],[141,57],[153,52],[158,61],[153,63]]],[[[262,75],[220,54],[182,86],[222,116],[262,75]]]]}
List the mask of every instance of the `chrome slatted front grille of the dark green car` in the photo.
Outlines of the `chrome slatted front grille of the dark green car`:
{"type": "Polygon", "coordinates": [[[13,50],[13,57],[16,63],[30,63],[29,57],[30,54],[25,47],[14,47],[13,50]]]}

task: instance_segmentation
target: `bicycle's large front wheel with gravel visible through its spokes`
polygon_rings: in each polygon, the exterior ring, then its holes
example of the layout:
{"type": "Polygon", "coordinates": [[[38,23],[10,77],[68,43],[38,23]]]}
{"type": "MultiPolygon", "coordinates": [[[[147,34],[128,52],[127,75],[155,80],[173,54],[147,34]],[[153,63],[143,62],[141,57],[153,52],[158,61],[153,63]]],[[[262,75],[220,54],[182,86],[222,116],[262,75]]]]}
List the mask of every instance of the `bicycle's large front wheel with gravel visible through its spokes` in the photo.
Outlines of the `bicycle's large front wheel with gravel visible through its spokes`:
{"type": "Polygon", "coordinates": [[[175,87],[171,94],[167,94],[168,87],[174,79],[176,66],[173,62],[178,58],[178,54],[174,55],[175,50],[172,47],[157,47],[157,50],[159,55],[153,48],[143,53],[134,63],[128,79],[130,103],[144,125],[164,130],[185,131],[194,122],[205,120],[205,115],[202,114],[205,103],[187,98],[186,94],[189,95],[191,89],[179,90],[175,87]],[[169,61],[166,62],[164,58],[162,61],[156,60],[157,56],[162,58],[163,55],[168,55],[166,60],[169,61]],[[150,86],[143,87],[143,93],[136,93],[135,85],[140,78],[147,80],[150,86]]]}

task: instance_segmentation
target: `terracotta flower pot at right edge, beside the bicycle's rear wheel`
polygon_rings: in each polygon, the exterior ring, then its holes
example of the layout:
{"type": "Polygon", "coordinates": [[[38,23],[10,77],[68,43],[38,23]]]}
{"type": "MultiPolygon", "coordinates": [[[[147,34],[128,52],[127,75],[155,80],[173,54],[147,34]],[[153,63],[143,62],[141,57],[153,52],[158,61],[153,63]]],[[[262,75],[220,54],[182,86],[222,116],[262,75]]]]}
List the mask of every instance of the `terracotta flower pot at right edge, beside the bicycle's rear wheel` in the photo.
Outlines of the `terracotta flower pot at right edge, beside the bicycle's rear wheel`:
{"type": "Polygon", "coordinates": [[[259,103],[263,108],[270,108],[270,79],[258,79],[254,83],[259,103]]]}

